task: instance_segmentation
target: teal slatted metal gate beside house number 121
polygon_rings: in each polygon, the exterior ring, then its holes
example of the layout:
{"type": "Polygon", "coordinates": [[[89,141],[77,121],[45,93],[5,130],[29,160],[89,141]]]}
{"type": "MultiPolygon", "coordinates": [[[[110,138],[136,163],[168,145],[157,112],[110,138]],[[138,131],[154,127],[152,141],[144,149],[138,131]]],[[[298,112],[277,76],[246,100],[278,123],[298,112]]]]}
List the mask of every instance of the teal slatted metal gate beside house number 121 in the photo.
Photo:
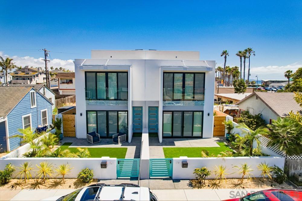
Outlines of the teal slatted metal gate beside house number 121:
{"type": "Polygon", "coordinates": [[[138,177],[140,159],[116,159],[117,177],[138,177]]]}

